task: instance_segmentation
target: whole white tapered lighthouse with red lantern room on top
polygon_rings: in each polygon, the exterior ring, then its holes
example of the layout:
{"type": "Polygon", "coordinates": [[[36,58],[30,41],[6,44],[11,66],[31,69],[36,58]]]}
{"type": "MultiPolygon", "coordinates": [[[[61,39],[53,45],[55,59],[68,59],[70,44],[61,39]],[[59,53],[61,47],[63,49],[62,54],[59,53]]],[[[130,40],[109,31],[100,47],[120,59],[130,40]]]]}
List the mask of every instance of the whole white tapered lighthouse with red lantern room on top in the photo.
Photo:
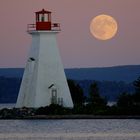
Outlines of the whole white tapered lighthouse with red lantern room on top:
{"type": "Polygon", "coordinates": [[[64,68],[57,47],[60,24],[52,23],[51,12],[35,13],[36,23],[28,24],[32,44],[24,70],[16,107],[43,107],[59,104],[73,107],[64,68]]]}

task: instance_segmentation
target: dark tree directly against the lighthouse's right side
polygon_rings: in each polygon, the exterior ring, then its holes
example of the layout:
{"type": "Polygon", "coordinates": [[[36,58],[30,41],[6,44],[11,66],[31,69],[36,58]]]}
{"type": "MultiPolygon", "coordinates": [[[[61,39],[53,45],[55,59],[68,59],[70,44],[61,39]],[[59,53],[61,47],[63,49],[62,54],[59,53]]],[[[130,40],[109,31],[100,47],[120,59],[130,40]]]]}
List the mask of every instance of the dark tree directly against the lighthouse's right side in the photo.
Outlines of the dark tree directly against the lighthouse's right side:
{"type": "Polygon", "coordinates": [[[84,103],[84,94],[82,88],[73,80],[68,80],[68,85],[74,105],[82,105],[84,103]]]}

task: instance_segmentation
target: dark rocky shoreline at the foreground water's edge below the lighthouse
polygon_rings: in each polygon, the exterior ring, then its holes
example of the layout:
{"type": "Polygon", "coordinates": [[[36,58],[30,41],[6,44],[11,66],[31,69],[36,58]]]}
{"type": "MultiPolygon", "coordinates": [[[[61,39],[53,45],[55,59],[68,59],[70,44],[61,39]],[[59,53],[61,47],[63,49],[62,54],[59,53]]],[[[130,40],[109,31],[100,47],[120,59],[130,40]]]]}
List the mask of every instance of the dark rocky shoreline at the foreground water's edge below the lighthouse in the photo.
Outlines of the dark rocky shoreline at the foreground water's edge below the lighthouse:
{"type": "Polygon", "coordinates": [[[0,110],[0,119],[140,119],[140,116],[86,114],[38,115],[36,114],[36,109],[33,108],[4,108],[0,110]]]}

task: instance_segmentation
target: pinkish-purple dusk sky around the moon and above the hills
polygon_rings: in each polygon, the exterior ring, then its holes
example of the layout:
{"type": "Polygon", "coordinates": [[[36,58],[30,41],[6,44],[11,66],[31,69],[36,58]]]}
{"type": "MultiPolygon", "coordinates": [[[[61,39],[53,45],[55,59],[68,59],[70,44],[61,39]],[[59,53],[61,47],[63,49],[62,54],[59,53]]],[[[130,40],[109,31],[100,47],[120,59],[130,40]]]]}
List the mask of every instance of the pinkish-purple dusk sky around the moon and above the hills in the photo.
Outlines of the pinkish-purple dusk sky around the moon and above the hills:
{"type": "Polygon", "coordinates": [[[25,67],[32,41],[27,24],[42,8],[61,24],[57,42],[65,68],[140,64],[140,0],[0,0],[0,68],[25,67]],[[117,34],[107,41],[89,30],[100,14],[118,23],[117,34]]]}

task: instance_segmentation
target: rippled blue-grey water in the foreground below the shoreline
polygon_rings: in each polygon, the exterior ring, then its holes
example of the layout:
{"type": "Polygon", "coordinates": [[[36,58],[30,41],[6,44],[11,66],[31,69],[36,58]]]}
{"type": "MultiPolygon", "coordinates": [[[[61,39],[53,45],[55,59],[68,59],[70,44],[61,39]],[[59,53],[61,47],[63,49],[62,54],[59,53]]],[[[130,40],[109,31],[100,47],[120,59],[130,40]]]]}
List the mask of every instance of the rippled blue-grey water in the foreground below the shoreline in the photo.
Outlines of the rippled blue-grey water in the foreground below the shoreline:
{"type": "Polygon", "coordinates": [[[0,140],[140,140],[140,120],[0,120],[0,140]]]}

